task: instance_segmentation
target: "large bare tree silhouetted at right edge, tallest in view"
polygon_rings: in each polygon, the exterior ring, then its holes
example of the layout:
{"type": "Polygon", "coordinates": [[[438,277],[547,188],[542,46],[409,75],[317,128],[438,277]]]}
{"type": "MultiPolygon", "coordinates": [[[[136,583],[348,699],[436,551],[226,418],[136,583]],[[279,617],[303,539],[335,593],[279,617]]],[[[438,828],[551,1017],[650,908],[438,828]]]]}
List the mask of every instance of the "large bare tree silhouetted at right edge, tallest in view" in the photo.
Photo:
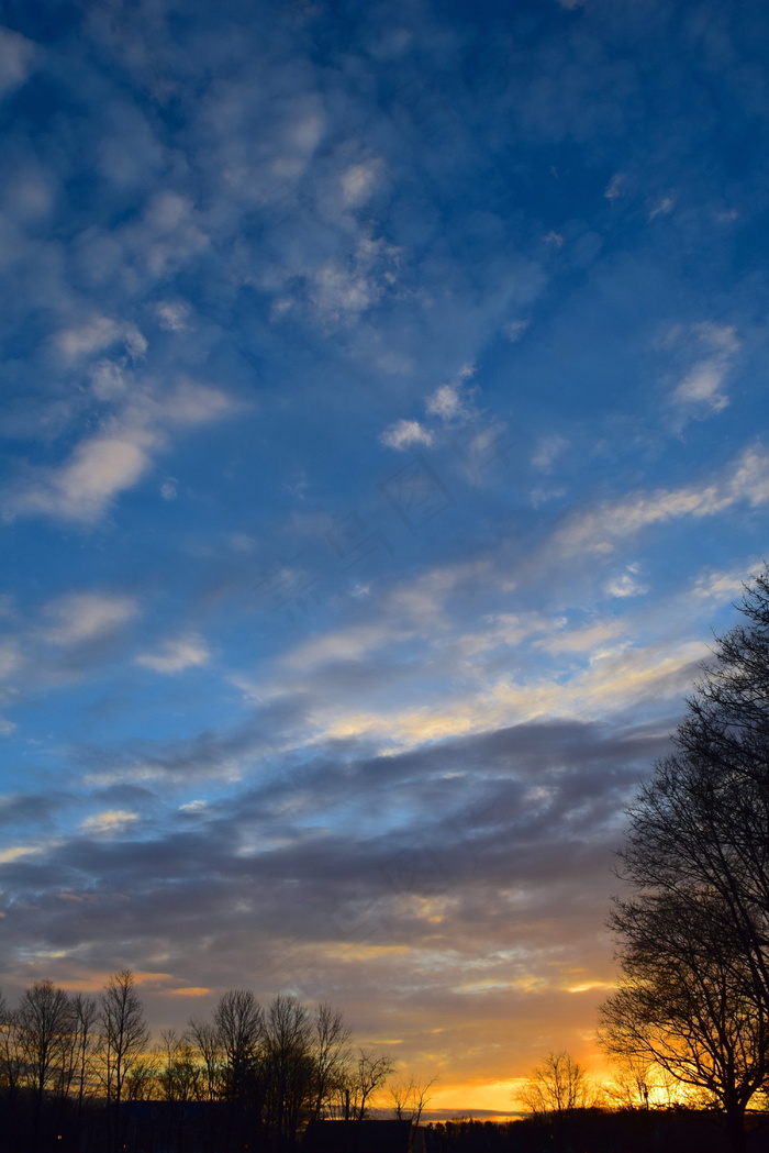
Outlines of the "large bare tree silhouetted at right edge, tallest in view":
{"type": "Polygon", "coordinates": [[[769,570],[740,611],[629,811],[602,1010],[606,1047],[709,1094],[734,1151],[769,1072],[769,570]]]}

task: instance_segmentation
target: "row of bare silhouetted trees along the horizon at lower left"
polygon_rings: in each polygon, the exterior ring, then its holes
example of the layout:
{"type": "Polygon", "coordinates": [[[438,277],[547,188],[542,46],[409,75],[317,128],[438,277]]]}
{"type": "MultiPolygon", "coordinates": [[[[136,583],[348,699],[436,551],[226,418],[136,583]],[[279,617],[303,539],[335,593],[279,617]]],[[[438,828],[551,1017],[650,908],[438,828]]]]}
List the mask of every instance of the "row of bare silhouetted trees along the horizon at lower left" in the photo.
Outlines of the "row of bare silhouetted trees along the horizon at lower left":
{"type": "Polygon", "coordinates": [[[150,1140],[172,1153],[282,1153],[310,1120],[363,1120],[392,1069],[386,1056],[353,1049],[341,1012],[291,996],[263,1009],[250,990],[229,990],[211,1019],[194,1017],[154,1046],[129,971],[98,998],[38,981],[15,1009],[0,1000],[8,1153],[108,1153],[150,1140]]]}

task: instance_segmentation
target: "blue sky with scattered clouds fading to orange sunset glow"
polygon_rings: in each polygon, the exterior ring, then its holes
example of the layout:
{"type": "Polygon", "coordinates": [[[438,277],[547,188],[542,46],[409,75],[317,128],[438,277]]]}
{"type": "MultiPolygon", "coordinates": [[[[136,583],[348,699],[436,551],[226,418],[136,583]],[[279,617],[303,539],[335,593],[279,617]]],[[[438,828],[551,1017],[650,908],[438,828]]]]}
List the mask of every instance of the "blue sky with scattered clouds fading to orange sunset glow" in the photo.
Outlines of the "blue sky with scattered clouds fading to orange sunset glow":
{"type": "Polygon", "coordinates": [[[8,0],[0,985],[601,1070],[767,557],[762,0],[8,0]]]}

